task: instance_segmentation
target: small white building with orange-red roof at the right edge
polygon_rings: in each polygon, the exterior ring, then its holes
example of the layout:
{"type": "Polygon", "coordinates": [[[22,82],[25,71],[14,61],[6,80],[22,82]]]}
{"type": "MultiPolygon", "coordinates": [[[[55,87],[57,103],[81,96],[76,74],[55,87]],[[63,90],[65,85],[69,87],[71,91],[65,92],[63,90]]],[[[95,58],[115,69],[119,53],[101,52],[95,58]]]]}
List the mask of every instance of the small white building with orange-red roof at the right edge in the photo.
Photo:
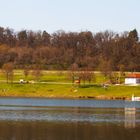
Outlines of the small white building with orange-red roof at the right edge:
{"type": "Polygon", "coordinates": [[[137,85],[140,84],[140,74],[129,74],[125,78],[126,85],[137,85]]]}

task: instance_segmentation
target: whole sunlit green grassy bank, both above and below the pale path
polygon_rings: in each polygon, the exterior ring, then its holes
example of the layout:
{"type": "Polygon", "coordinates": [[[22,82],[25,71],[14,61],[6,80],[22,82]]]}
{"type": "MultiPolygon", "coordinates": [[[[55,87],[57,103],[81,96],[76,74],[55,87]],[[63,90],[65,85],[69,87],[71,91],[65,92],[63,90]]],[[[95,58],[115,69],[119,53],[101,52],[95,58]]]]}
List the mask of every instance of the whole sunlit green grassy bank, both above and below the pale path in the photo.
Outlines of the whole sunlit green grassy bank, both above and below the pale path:
{"type": "MultiPolygon", "coordinates": [[[[0,96],[11,97],[49,97],[49,98],[97,98],[97,99],[130,99],[132,94],[140,96],[140,86],[109,85],[104,88],[101,83],[104,77],[97,73],[96,82],[73,85],[67,77],[67,72],[44,71],[37,83],[20,84],[24,79],[23,71],[14,73],[14,83],[5,83],[5,77],[0,74],[0,96]]],[[[27,79],[33,80],[29,75],[27,79]]]]}

